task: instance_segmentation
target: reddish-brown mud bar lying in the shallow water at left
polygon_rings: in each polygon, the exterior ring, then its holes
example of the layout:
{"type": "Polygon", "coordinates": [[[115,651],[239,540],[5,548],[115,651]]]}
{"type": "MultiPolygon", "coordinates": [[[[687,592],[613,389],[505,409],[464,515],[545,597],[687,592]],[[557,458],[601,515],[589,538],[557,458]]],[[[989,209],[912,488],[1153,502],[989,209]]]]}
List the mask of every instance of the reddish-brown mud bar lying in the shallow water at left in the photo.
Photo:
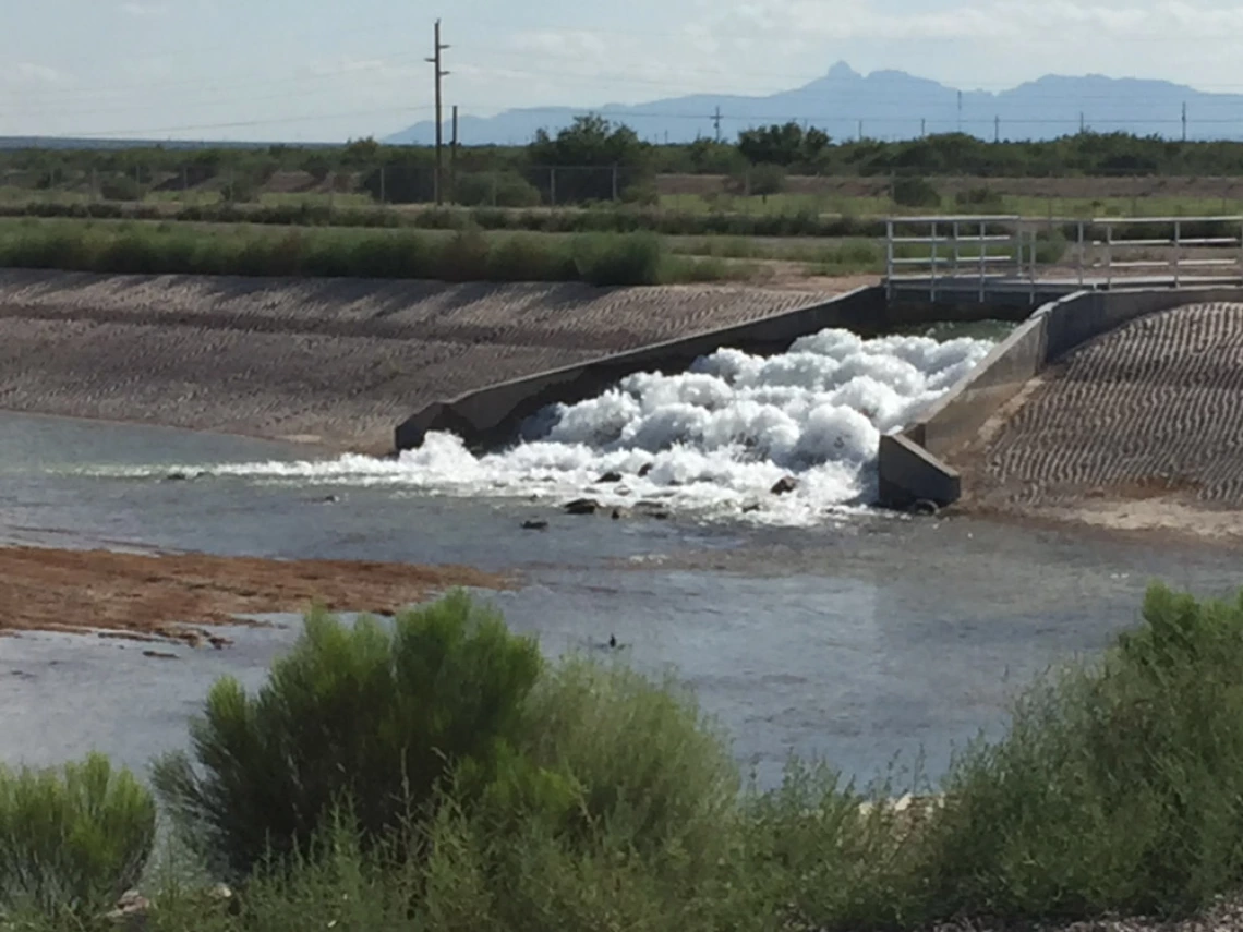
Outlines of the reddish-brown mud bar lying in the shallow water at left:
{"type": "Polygon", "coordinates": [[[0,548],[0,635],[111,629],[206,642],[194,625],[239,614],[334,610],[387,614],[457,585],[512,580],[466,567],[353,560],[271,560],[204,554],[0,548]]]}

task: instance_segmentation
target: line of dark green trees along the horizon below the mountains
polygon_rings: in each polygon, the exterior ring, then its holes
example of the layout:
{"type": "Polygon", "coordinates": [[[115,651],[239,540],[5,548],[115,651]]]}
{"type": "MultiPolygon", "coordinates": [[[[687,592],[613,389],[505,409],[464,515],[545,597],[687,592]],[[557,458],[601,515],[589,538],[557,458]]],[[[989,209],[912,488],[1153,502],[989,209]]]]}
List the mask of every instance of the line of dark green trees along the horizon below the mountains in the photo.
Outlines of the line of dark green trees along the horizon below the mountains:
{"type": "MultiPolygon", "coordinates": [[[[303,171],[326,185],[349,179],[344,189],[360,188],[389,203],[430,200],[434,164],[429,147],[385,145],[374,139],[336,148],[0,152],[0,173],[32,175],[34,186],[57,188],[68,179],[96,174],[169,190],[215,180],[227,183],[232,193],[261,186],[278,171],[303,171]]],[[[658,174],[727,175],[737,179],[738,193],[752,194],[778,189],[786,175],[1233,176],[1243,175],[1243,143],[1094,132],[1038,142],[994,143],[965,133],[881,142],[833,139],[815,127],[792,122],[747,129],[731,142],[697,139],[661,145],[641,140],[624,124],[590,114],[554,133],[539,130],[526,145],[462,147],[445,157],[445,165],[443,184],[454,185],[459,203],[525,206],[549,200],[643,201],[654,196],[658,174]],[[557,168],[566,171],[549,171],[557,168]],[[549,191],[551,185],[556,190],[549,191]]]]}

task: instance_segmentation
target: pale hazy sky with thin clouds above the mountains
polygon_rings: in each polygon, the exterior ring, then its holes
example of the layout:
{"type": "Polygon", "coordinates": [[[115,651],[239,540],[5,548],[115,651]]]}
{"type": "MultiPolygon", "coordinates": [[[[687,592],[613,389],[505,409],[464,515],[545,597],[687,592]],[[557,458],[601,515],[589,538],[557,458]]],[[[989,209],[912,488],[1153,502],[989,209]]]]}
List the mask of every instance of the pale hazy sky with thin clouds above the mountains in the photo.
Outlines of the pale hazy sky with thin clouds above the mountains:
{"type": "Polygon", "coordinates": [[[1003,89],[1049,72],[1243,92],[1224,0],[5,0],[0,135],[333,140],[446,103],[638,103],[772,93],[901,68],[1003,89]]]}

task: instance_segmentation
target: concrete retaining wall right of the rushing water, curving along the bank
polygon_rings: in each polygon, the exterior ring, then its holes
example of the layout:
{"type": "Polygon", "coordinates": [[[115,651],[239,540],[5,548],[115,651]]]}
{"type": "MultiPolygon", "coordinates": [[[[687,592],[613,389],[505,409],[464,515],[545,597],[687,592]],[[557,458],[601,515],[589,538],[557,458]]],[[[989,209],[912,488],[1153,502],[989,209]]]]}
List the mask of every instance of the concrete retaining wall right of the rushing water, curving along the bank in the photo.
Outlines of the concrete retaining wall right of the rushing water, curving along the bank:
{"type": "Polygon", "coordinates": [[[905,508],[921,500],[942,506],[957,501],[961,480],[945,460],[973,440],[1037,373],[1137,317],[1223,301],[1243,301],[1243,288],[1080,291],[1039,307],[917,421],[881,440],[881,505],[905,508]]]}

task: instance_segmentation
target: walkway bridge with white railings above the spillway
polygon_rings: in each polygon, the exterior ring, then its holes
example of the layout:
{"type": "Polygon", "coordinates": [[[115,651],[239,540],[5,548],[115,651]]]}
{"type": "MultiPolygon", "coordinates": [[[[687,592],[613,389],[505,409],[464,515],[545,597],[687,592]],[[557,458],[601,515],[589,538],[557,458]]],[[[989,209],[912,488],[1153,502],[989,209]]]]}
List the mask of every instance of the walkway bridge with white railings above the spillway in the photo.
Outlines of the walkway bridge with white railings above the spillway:
{"type": "Polygon", "coordinates": [[[1079,291],[1243,283],[1243,216],[886,221],[889,303],[1035,307],[1079,291]]]}

